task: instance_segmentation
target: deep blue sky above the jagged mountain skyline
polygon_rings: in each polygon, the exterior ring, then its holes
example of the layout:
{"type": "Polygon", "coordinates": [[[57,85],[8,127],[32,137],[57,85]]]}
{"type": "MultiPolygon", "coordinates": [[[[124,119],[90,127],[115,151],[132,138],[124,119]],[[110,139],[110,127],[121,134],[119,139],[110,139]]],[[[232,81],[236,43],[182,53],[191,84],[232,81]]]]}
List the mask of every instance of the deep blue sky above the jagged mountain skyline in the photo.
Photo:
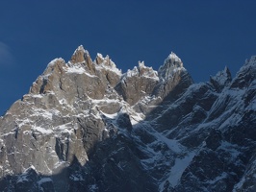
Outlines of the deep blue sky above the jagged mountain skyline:
{"type": "Polygon", "coordinates": [[[195,83],[256,55],[255,0],[0,1],[0,114],[26,94],[55,58],[79,45],[126,72],[158,70],[172,51],[195,83]]]}

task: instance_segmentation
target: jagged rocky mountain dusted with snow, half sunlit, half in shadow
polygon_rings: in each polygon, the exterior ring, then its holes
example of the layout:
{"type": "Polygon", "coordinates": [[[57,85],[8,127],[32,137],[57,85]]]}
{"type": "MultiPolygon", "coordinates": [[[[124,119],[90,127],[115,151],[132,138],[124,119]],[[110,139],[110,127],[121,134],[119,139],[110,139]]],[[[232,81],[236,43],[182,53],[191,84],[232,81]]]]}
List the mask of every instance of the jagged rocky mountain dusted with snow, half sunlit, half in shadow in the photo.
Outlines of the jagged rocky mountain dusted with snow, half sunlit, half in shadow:
{"type": "Polygon", "coordinates": [[[194,84],[79,46],[0,118],[1,191],[255,191],[256,57],[194,84]]]}

